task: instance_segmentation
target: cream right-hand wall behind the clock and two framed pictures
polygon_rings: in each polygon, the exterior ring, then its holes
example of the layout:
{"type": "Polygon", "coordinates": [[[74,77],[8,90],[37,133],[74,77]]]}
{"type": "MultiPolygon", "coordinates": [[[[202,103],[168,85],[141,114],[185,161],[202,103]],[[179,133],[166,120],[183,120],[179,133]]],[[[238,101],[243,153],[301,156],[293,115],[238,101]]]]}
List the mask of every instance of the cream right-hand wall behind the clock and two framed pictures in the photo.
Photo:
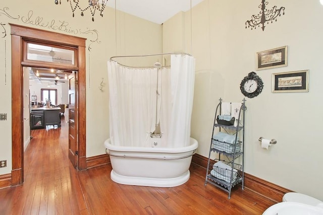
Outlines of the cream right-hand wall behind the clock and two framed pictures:
{"type": "MultiPolygon", "coordinates": [[[[219,98],[242,101],[239,85],[250,71],[256,71],[256,52],[288,45],[288,66],[257,70],[263,91],[246,98],[245,172],[323,200],[323,6],[318,0],[272,0],[267,7],[284,6],[286,14],[266,24],[264,31],[245,29],[251,15],[259,13],[259,4],[259,0],[204,0],[193,8],[192,41],[186,41],[192,42],[196,58],[191,136],[199,142],[197,153],[207,157],[219,98]],[[303,69],[309,69],[308,93],[272,93],[273,73],[303,69]],[[277,139],[277,145],[262,149],[260,136],[277,139]]],[[[189,12],[182,21],[189,35],[189,12]]],[[[182,25],[173,19],[164,23],[164,47],[182,44],[182,38],[165,40],[173,34],[169,26],[182,25]]],[[[182,51],[186,50],[183,46],[182,51]]]]}

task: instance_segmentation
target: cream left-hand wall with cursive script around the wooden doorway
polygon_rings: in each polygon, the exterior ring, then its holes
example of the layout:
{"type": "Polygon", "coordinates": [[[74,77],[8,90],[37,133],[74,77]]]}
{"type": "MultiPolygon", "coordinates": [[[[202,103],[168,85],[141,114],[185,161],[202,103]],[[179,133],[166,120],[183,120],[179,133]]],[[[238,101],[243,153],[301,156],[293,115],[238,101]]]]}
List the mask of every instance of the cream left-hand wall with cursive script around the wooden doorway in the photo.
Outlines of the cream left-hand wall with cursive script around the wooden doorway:
{"type": "Polygon", "coordinates": [[[112,56],[161,52],[161,25],[130,16],[109,7],[104,16],[95,16],[92,22],[89,11],[80,16],[69,3],[55,5],[54,1],[15,0],[0,3],[0,113],[7,113],[7,121],[0,121],[0,160],[7,167],[0,175],[11,173],[11,35],[9,23],[54,31],[86,38],[86,157],[104,154],[103,142],[109,137],[109,103],[107,61],[112,56]],[[19,7],[17,7],[19,5],[19,7]],[[8,9],[5,9],[8,7],[8,9]],[[50,10],[48,10],[50,9],[50,10]],[[30,12],[30,10],[32,10],[30,12]],[[117,17],[117,20],[116,20],[117,17]],[[117,24],[117,29],[116,29],[117,24]],[[117,32],[117,35],[116,35],[117,32]],[[89,50],[90,49],[90,50],[89,50]],[[103,79],[102,91],[99,89],[103,79]]]}

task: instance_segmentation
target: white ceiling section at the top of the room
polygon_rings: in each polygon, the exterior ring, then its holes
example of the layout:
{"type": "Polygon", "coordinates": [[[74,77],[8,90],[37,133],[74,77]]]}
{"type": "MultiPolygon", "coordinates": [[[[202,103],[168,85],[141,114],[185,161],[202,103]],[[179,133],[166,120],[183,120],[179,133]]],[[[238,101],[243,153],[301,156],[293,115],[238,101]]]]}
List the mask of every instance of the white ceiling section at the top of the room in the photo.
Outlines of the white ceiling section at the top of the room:
{"type": "Polygon", "coordinates": [[[186,12],[202,1],[203,0],[108,0],[107,6],[157,24],[163,24],[177,13],[181,11],[186,12]]]}

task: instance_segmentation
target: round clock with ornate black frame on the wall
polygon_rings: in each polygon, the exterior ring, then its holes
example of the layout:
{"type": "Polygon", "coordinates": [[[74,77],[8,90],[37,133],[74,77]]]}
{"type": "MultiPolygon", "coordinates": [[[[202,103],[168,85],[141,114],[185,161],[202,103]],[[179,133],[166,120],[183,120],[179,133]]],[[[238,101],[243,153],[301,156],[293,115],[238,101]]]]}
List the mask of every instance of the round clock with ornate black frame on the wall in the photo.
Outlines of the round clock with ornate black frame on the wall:
{"type": "Polygon", "coordinates": [[[248,98],[258,96],[261,93],[262,88],[263,82],[254,71],[244,77],[240,84],[241,93],[248,98]]]}

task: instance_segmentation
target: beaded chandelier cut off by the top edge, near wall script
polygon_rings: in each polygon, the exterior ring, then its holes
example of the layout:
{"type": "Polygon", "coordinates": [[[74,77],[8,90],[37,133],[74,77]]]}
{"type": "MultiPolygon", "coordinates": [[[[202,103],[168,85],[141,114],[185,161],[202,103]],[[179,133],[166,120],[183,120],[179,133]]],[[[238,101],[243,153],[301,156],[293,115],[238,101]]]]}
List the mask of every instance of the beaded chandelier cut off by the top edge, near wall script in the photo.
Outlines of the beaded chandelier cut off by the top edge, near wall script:
{"type": "MultiPolygon", "coordinates": [[[[91,15],[92,15],[92,21],[94,22],[94,15],[96,11],[100,12],[100,16],[103,17],[103,11],[105,9],[106,3],[108,0],[67,0],[67,2],[70,3],[71,10],[73,12],[73,17],[74,17],[74,12],[79,9],[81,11],[81,16],[84,16],[85,11],[90,10],[91,15]],[[80,3],[81,2],[86,2],[87,5],[84,8],[81,8],[80,3]],[[73,2],[73,3],[72,3],[73,2]]],[[[61,0],[55,0],[55,4],[58,5],[60,3],[61,5],[61,0]]]]}

